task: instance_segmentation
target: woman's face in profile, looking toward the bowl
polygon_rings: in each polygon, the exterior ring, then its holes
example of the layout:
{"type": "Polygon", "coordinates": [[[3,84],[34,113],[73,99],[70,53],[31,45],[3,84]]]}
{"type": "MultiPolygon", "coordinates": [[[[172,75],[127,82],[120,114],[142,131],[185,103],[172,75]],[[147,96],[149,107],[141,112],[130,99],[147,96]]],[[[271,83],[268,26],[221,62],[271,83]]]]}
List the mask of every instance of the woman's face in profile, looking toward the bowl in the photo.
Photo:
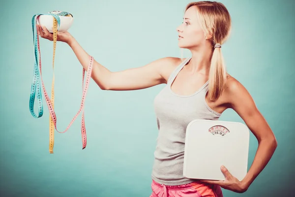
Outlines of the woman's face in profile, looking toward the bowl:
{"type": "Polygon", "coordinates": [[[183,23],[177,27],[178,46],[180,48],[194,48],[205,42],[205,34],[197,16],[196,6],[188,8],[183,17],[183,23]]]}

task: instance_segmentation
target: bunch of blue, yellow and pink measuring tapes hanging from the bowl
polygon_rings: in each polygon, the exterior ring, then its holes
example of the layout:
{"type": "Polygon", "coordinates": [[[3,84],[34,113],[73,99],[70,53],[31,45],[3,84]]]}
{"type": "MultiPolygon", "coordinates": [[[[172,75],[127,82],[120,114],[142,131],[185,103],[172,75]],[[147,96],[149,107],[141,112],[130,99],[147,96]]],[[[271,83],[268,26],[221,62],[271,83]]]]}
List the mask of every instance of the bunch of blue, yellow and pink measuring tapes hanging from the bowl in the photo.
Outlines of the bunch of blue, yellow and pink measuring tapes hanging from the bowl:
{"type": "MultiPolygon", "coordinates": [[[[40,118],[43,115],[43,105],[42,105],[42,96],[41,96],[41,90],[40,90],[40,78],[42,81],[42,87],[43,87],[43,92],[44,96],[46,99],[46,103],[50,112],[50,117],[49,117],[49,152],[52,154],[53,153],[53,147],[54,147],[54,128],[57,130],[57,117],[54,111],[54,59],[55,59],[55,51],[56,51],[56,42],[57,42],[57,32],[59,31],[59,28],[57,25],[59,24],[60,27],[60,16],[72,16],[68,12],[60,12],[60,11],[53,11],[48,14],[36,14],[32,18],[32,29],[33,29],[33,41],[34,41],[34,47],[35,47],[35,66],[34,66],[34,77],[33,77],[33,83],[31,86],[31,94],[30,94],[30,100],[29,100],[29,109],[34,118],[40,118]],[[43,79],[42,79],[42,71],[41,71],[41,52],[40,52],[40,44],[39,44],[39,30],[37,27],[36,21],[38,20],[40,15],[51,15],[54,17],[53,20],[53,41],[54,41],[54,47],[53,47],[53,80],[52,80],[52,86],[51,86],[51,99],[49,99],[49,96],[46,92],[43,79]],[[36,33],[34,33],[34,28],[36,28],[36,33]],[[36,36],[36,37],[35,37],[36,36]],[[38,70],[38,61],[37,61],[37,50],[39,51],[39,69],[38,70]],[[37,89],[37,99],[38,99],[38,109],[39,109],[39,114],[38,116],[34,113],[34,99],[35,99],[35,92],[37,89]]],[[[73,17],[73,16],[72,16],[73,17]]],[[[82,133],[82,143],[83,143],[83,148],[86,148],[87,144],[87,136],[86,136],[86,128],[85,128],[85,119],[84,119],[84,103],[85,103],[85,97],[87,94],[88,86],[89,86],[89,80],[91,77],[91,72],[92,72],[92,64],[93,64],[93,57],[90,56],[90,61],[89,61],[89,66],[87,70],[87,77],[86,77],[86,84],[84,87],[84,78],[85,78],[85,69],[83,68],[83,77],[82,77],[82,89],[83,89],[83,96],[82,96],[82,101],[81,101],[81,106],[78,111],[78,113],[75,115],[73,120],[70,122],[69,126],[66,128],[65,131],[58,131],[59,133],[64,133],[66,132],[70,126],[73,124],[77,116],[80,114],[82,111],[82,122],[81,122],[81,133],[82,133]],[[84,87],[84,88],[83,88],[84,87]]]]}

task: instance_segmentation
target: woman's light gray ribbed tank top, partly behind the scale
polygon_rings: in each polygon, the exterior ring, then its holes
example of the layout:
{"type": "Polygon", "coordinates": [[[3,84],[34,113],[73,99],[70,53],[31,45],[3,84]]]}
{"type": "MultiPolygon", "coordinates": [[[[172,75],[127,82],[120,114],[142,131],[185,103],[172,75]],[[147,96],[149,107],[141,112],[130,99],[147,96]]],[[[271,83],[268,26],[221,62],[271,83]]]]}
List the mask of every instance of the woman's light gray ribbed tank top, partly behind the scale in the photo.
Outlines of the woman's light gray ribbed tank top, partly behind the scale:
{"type": "Polygon", "coordinates": [[[177,95],[171,90],[172,82],[190,59],[185,59],[175,68],[167,85],[154,99],[159,133],[151,177],[160,184],[182,185],[194,181],[182,175],[186,127],[195,119],[218,120],[221,116],[212,110],[205,100],[208,81],[189,96],[177,95]]]}

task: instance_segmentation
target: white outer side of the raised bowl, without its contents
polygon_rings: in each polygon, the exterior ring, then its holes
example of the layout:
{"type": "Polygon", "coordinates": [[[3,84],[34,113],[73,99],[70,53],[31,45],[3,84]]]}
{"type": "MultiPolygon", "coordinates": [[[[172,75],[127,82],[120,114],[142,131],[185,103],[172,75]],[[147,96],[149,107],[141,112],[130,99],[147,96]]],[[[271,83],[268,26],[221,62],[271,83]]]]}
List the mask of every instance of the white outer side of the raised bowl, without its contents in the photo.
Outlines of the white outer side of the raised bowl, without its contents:
{"type": "MultiPolygon", "coordinates": [[[[40,24],[42,26],[45,26],[46,29],[53,33],[53,19],[54,17],[51,15],[40,15],[37,24],[40,24]]],[[[60,19],[60,27],[58,23],[58,29],[60,33],[67,31],[72,26],[74,18],[71,16],[59,16],[60,19]]]]}

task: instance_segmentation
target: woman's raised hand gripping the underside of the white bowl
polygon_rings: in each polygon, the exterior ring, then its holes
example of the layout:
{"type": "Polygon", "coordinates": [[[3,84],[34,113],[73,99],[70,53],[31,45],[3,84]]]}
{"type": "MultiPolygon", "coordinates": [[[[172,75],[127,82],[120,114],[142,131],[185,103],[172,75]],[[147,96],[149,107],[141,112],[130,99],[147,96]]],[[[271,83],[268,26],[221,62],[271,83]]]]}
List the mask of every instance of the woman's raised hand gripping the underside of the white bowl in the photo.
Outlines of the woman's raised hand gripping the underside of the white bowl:
{"type": "MultiPolygon", "coordinates": [[[[53,33],[49,33],[49,31],[46,29],[45,26],[38,25],[39,29],[39,35],[45,39],[48,39],[50,41],[53,41],[53,33]]],[[[57,41],[65,42],[69,44],[69,42],[73,39],[73,36],[66,32],[63,33],[57,33],[57,41]]]]}

